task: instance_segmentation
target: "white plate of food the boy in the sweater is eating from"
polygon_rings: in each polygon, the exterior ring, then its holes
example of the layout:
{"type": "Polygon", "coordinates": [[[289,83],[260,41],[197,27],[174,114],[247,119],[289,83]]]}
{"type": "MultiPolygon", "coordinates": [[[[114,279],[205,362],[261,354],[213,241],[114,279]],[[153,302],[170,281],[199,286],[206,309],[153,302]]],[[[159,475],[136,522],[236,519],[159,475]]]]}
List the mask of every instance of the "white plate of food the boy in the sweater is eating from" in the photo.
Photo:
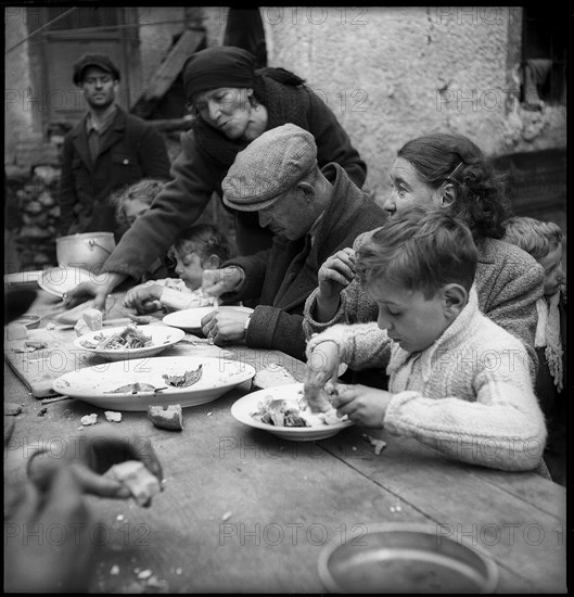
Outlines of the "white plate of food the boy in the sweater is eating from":
{"type": "Polygon", "coordinates": [[[247,394],[233,404],[231,415],[248,427],[295,442],[324,440],[353,424],[346,416],[340,419],[333,407],[324,412],[312,412],[304,396],[303,383],[277,385],[247,394]]]}

